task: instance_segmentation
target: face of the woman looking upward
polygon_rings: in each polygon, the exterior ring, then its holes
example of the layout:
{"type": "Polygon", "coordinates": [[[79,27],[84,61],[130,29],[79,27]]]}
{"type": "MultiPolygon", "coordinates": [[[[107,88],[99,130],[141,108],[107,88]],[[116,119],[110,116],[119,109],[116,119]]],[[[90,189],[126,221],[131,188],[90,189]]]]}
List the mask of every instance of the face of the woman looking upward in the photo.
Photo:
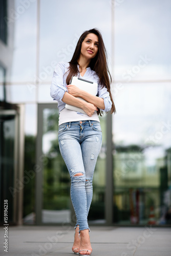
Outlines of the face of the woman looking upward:
{"type": "Polygon", "coordinates": [[[98,52],[98,36],[90,33],[83,40],[81,45],[81,53],[83,57],[92,59],[98,52]]]}

